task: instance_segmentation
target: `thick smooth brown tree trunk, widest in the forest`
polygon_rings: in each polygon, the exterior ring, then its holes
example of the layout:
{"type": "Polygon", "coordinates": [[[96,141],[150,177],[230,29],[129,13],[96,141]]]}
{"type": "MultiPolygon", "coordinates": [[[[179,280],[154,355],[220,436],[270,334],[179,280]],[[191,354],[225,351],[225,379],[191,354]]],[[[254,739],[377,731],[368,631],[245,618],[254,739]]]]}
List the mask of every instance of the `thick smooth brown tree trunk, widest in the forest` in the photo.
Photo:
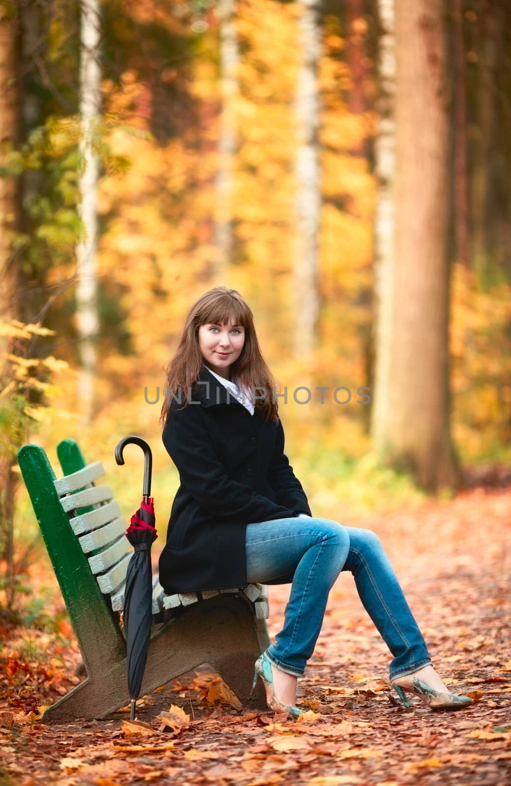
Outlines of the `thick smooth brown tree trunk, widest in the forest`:
{"type": "Polygon", "coordinates": [[[428,490],[457,480],[448,385],[448,101],[442,0],[396,0],[395,266],[388,450],[428,490]]]}

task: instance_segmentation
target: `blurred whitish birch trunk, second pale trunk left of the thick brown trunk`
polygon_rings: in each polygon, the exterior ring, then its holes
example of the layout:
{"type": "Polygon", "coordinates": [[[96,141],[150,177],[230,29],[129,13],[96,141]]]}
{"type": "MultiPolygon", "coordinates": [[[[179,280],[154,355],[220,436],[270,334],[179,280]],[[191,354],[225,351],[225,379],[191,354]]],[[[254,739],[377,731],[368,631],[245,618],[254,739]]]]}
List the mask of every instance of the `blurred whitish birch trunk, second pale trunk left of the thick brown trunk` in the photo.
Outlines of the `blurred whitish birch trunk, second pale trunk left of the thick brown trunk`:
{"type": "Polygon", "coordinates": [[[302,61],[298,69],[296,119],[298,150],[297,248],[294,263],[294,353],[306,359],[317,341],[320,310],[319,230],[320,230],[320,146],[319,86],[320,0],[298,0],[299,37],[302,61]]]}

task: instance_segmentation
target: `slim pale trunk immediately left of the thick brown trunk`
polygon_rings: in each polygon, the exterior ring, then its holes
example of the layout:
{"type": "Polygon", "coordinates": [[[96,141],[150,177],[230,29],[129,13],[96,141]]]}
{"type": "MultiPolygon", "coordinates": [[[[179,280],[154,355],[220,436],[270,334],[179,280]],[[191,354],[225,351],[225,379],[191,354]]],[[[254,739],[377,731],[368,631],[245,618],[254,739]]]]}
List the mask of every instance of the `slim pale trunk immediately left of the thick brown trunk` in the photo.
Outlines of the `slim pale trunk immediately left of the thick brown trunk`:
{"type": "Polygon", "coordinates": [[[375,169],[378,178],[374,239],[376,360],[371,436],[376,452],[382,456],[388,443],[391,392],[396,78],[394,0],[378,0],[378,16],[381,33],[378,52],[378,114],[380,119],[375,142],[375,169]]]}

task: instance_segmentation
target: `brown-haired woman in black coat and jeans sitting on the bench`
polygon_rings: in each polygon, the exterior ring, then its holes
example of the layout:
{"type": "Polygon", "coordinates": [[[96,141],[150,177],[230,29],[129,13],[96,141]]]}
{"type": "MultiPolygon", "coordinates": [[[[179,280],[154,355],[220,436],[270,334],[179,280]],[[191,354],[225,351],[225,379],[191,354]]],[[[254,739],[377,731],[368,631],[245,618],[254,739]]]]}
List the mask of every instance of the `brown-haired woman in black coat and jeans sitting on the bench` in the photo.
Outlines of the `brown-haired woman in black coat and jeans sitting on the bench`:
{"type": "Polygon", "coordinates": [[[433,709],[471,704],[450,695],[432,667],[376,534],[313,517],[284,454],[275,382],[238,292],[216,287],[194,303],[166,371],[162,439],[180,487],[160,557],[162,586],[178,593],[291,582],[283,629],[257,659],[252,691],[261,678],[268,707],[298,718],[298,676],[331,586],[340,571],[351,571],[394,656],[391,685],[405,708],[404,691],[433,709]]]}

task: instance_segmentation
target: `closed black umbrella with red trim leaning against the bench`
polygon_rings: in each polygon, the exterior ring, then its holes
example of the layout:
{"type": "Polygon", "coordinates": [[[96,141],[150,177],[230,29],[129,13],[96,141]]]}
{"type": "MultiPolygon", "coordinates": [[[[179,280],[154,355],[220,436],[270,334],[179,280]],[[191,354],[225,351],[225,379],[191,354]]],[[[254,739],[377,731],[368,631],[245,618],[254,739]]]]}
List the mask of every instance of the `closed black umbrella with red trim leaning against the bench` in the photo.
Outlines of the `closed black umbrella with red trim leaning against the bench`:
{"type": "Polygon", "coordinates": [[[153,615],[153,575],[151,570],[151,545],[156,539],[154,504],[150,497],[153,457],[150,446],[140,437],[121,439],[115,449],[117,464],[124,464],[124,446],[139,445],[145,455],[143,498],[131,524],[126,530],[128,541],[135,547],[128,564],[124,589],[124,632],[128,663],[128,691],[131,699],[130,720],[135,718],[136,700],[140,695],[147,650],[151,637],[153,615]]]}

